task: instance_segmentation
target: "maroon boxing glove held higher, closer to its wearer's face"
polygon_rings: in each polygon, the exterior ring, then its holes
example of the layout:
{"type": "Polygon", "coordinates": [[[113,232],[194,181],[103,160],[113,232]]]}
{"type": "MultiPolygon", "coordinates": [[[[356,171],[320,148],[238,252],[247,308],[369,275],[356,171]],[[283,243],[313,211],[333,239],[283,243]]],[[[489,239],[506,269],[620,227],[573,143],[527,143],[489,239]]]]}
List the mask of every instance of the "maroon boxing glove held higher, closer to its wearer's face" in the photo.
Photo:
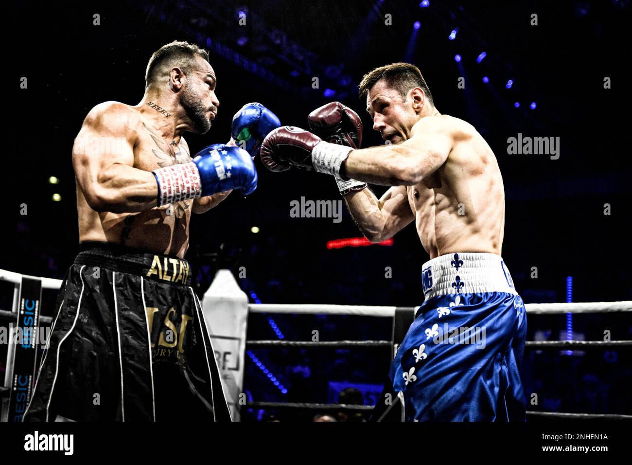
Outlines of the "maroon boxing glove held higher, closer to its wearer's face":
{"type": "Polygon", "coordinates": [[[310,130],[322,140],[359,149],[362,144],[362,120],[358,113],[341,102],[315,109],[307,117],[310,130]]]}

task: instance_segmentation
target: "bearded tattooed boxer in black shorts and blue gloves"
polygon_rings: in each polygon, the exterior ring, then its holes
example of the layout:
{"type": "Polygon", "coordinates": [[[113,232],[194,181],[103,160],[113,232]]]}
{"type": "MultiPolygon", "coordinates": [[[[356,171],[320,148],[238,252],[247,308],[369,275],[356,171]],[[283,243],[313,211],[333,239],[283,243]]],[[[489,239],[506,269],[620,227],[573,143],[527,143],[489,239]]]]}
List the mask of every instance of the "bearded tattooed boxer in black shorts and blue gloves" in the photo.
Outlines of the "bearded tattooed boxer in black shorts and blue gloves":
{"type": "Polygon", "coordinates": [[[145,82],[138,105],[95,106],[75,139],[80,253],[25,421],[231,421],[183,257],[191,213],[256,189],[252,156],[279,120],[246,104],[228,144],[191,159],[183,133],[206,133],[219,106],[208,53],[171,42],[145,82]]]}

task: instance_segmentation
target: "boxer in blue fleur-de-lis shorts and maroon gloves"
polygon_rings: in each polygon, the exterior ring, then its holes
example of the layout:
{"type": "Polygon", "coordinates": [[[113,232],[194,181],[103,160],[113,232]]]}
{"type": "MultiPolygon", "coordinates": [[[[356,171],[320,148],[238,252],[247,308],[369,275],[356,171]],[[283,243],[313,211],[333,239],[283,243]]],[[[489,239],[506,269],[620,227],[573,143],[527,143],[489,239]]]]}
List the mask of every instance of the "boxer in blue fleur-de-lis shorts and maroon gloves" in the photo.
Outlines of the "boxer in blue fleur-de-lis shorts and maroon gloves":
{"type": "Polygon", "coordinates": [[[492,149],[472,125],[439,113],[415,65],[370,71],[360,96],[384,146],[360,149],[360,118],[332,102],[308,116],[310,131],[270,132],[260,154],[272,171],[334,175],[372,242],[414,221],[430,255],[425,300],[372,419],[524,421],[526,315],[501,258],[504,187],[492,149]],[[367,183],[391,188],[377,198],[367,183]]]}

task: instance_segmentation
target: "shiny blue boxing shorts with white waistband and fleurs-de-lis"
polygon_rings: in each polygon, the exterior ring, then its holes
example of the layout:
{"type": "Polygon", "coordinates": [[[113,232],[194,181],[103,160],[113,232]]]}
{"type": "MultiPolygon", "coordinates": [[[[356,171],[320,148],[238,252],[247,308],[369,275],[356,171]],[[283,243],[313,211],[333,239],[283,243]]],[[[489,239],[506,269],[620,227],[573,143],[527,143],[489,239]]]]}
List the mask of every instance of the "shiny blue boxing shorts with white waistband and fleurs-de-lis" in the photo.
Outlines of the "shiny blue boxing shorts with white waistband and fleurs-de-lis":
{"type": "Polygon", "coordinates": [[[436,257],[425,300],[397,350],[374,421],[525,421],[523,301],[502,258],[436,257]]]}

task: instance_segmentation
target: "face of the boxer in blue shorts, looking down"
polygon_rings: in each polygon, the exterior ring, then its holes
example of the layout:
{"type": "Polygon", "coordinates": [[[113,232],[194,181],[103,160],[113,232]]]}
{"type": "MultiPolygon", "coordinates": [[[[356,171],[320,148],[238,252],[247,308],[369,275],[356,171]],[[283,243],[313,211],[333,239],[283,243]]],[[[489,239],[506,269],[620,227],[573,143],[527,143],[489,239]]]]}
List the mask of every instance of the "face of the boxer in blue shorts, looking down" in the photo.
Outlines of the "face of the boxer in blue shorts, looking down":
{"type": "Polygon", "coordinates": [[[418,112],[413,108],[413,99],[403,99],[398,90],[380,80],[371,87],[367,96],[367,111],[373,118],[373,128],[379,131],[382,139],[399,144],[410,137],[413,125],[419,120],[418,112]]]}

